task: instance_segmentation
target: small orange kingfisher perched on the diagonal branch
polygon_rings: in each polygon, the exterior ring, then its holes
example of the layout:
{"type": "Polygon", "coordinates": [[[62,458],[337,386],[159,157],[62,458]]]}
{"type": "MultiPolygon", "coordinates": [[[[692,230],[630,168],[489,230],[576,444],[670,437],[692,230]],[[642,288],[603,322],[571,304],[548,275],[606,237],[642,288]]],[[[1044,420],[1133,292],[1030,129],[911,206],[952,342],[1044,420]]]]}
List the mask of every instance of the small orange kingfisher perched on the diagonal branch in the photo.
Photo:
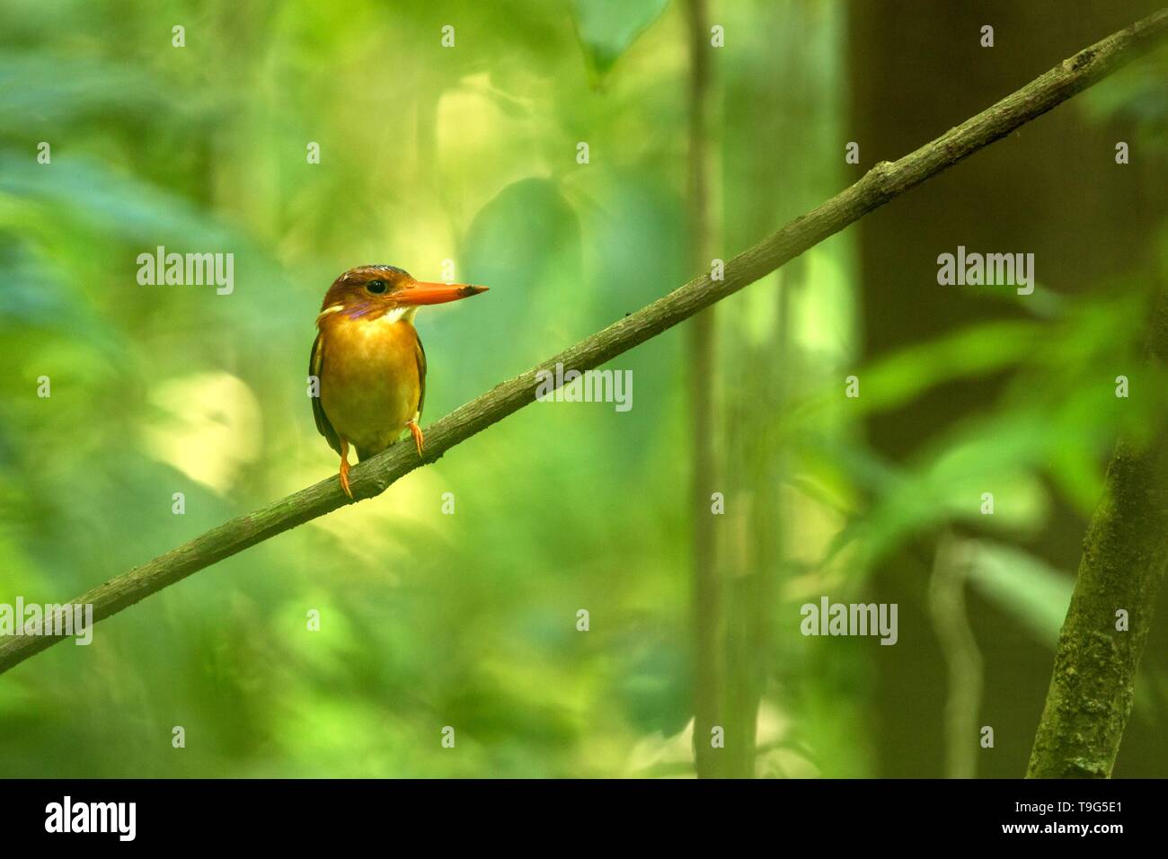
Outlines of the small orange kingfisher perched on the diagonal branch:
{"type": "Polygon", "coordinates": [[[349,498],[350,444],[361,462],[409,429],[422,456],[418,420],[426,399],[426,353],[413,328],[418,307],[486,291],[415,280],[395,265],[349,269],[328,288],[308,360],[308,374],[318,383],[312,414],[320,435],[341,455],[341,489],[349,498]]]}

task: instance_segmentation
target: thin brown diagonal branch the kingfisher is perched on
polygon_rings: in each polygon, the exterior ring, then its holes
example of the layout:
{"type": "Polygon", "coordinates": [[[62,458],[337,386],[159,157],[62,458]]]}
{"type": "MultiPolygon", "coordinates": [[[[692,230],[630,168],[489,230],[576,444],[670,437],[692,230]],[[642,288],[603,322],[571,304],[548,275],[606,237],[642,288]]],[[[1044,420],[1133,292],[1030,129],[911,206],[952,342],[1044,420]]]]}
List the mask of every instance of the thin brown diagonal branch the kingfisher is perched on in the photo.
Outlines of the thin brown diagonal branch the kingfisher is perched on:
{"type": "MultiPolygon", "coordinates": [[[[416,467],[434,462],[456,444],[533,402],[538,386],[538,370],[554,369],[557,362],[578,370],[591,369],[656,337],[769,275],[889,200],[1082,92],[1150,48],[1166,34],[1168,9],[1161,9],[1084,48],[1022,89],[898,161],[881,161],[855,185],[726,263],[725,279],[715,282],[709,275],[694,278],[431,424],[426,428],[427,446],[424,458],[418,458],[412,444],[403,443],[361,463],[352,472],[353,494],[357,499],[381,494],[390,484],[416,467]]],[[[336,478],[331,477],[253,513],[224,522],[190,542],[82,594],[72,604],[92,604],[93,619],[102,621],[192,573],[325,515],[346,503],[348,499],[336,478]]],[[[46,626],[54,621],[54,617],[46,618],[46,626]]],[[[29,625],[25,631],[34,630],[29,625]]],[[[0,642],[0,673],[57,640],[61,640],[60,636],[21,635],[0,642]]]]}

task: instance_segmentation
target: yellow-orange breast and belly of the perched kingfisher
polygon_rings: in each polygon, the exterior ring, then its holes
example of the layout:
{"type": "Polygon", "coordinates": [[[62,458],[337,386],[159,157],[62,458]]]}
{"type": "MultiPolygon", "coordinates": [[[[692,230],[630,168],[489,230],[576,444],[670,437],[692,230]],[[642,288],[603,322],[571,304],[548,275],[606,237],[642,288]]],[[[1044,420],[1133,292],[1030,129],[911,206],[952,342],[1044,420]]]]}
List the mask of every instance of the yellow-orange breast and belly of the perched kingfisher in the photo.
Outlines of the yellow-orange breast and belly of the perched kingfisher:
{"type": "Polygon", "coordinates": [[[321,320],[320,404],[336,434],[362,456],[397,441],[418,411],[418,334],[406,319],[321,320]]]}

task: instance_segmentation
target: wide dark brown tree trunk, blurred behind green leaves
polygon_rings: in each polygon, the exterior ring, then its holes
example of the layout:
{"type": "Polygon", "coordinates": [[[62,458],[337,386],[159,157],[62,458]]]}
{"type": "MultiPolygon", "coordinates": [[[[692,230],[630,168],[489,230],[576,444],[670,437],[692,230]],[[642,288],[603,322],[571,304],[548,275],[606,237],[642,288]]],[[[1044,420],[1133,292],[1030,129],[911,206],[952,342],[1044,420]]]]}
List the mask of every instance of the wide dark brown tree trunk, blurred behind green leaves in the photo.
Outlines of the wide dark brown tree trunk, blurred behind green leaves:
{"type": "MultiPolygon", "coordinates": [[[[858,168],[918,146],[1010,91],[1020,77],[1148,11],[1141,0],[1084,5],[1075,15],[1052,0],[854,0],[854,126],[848,139],[860,144],[858,168]],[[994,27],[993,48],[979,42],[983,25],[994,27]],[[912,108],[890,110],[889,92],[897,93],[897,104],[912,108]]],[[[1004,302],[938,288],[937,256],[959,243],[971,250],[1033,251],[1040,289],[1071,299],[1131,271],[1133,248],[1147,247],[1163,212],[1155,200],[1159,189],[1141,181],[1136,171],[1114,164],[1115,141],[1129,139],[1131,129],[1087,123],[1082,110],[1072,102],[1047,115],[960,171],[940,176],[925,193],[863,221],[857,233],[865,362],[945,332],[1021,313],[1004,302]],[[1057,213],[1054,222],[1049,213],[1057,213]],[[1069,241],[1071,236],[1090,241],[1069,241]]],[[[875,414],[867,422],[869,442],[892,463],[910,460],[958,421],[992,408],[1002,383],[954,381],[875,414]]],[[[1080,515],[1056,503],[1044,529],[1023,548],[1054,567],[1073,569],[1082,534],[1080,515]]],[[[870,598],[899,603],[902,629],[931,625],[924,610],[927,569],[917,559],[932,555],[932,542],[923,538],[912,550],[889,557],[870,580],[870,598]]],[[[980,712],[973,715],[979,726],[993,726],[996,742],[993,754],[976,756],[978,775],[1015,777],[1043,706],[1049,651],[988,603],[976,605],[974,632],[986,685],[980,712]]],[[[880,661],[880,693],[874,699],[880,771],[890,777],[941,776],[947,667],[940,642],[912,646],[902,639],[895,650],[896,659],[880,661]],[[923,761],[930,762],[924,769],[923,761]]]]}

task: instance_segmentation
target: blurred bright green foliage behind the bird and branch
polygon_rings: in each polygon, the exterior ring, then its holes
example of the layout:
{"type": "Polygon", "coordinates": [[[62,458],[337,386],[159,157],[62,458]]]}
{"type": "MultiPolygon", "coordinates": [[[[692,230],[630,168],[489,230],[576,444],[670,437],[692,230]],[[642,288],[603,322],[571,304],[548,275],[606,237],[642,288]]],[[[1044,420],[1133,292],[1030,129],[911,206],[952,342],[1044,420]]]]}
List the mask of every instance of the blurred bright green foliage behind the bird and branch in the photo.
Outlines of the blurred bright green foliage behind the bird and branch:
{"type": "MultiPolygon", "coordinates": [[[[718,55],[711,145],[729,258],[849,181],[846,18],[816,2],[721,12],[735,49],[718,55]]],[[[347,268],[437,279],[450,258],[492,286],[419,316],[427,420],[688,279],[682,13],[666,0],[7,2],[0,601],[65,600],[334,473],[304,374],[320,299],[347,268]],[[139,285],[135,257],[157,245],[234,252],[234,293],[139,285]]],[[[1094,104],[1161,102],[1134,83],[1094,104]]],[[[1118,427],[1168,390],[1138,370],[1133,389],[1154,396],[1128,404],[1110,387],[1110,368],[1139,366],[1133,272],[1073,306],[1020,305],[885,356],[860,370],[864,396],[842,401],[858,352],[853,244],[837,236],[719,305],[722,333],[742,338],[721,354],[721,401],[757,428],[743,467],[778,474],[752,521],[785,534],[763,607],[772,636],[750,656],[760,775],[878,775],[870,642],[801,637],[802,602],[860,600],[878,559],[975,525],[969,498],[987,482],[1014,499],[996,540],[1035,533],[1055,504],[1085,518],[1118,427]],[[911,462],[863,443],[867,413],[1003,374],[990,413],[911,462]]],[[[683,340],[614,366],[634,373],[632,411],[534,404],[385,496],[103,623],[91,647],[61,644],[0,677],[0,775],[690,774],[683,340]]],[[[1065,576],[1017,548],[985,559],[975,587],[1052,645],[1065,576]]]]}

